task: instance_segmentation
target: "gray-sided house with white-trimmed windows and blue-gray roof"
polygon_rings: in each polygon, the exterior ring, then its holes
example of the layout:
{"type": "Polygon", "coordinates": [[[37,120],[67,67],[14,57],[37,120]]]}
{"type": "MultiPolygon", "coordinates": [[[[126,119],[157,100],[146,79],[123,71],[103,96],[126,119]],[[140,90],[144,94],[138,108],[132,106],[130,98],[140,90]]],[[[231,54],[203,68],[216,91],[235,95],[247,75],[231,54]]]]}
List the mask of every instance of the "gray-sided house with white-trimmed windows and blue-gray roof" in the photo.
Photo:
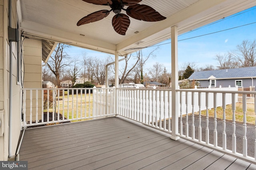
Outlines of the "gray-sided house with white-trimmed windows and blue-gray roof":
{"type": "Polygon", "coordinates": [[[196,71],[188,80],[195,80],[198,87],[244,87],[255,86],[256,66],[222,70],[196,71]]]}

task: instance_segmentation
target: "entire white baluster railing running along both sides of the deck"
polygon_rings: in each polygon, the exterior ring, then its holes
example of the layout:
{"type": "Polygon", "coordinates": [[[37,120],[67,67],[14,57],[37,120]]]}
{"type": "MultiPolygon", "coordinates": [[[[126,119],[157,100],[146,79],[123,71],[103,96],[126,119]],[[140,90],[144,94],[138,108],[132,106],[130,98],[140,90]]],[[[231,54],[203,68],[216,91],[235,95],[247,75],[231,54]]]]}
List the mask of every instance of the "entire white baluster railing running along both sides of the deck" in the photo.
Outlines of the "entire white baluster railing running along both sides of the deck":
{"type": "MultiPolygon", "coordinates": [[[[179,102],[179,113],[176,114],[180,117],[178,122],[171,118],[172,96],[171,90],[168,89],[61,88],[23,89],[23,92],[23,113],[24,122],[26,122],[23,125],[24,127],[120,115],[172,133],[171,124],[174,123],[179,125],[179,131],[176,134],[179,137],[256,162],[256,152],[250,156],[247,152],[248,137],[253,137],[252,141],[254,141],[253,144],[250,144],[250,150],[256,148],[256,127],[254,123],[253,134],[248,135],[246,122],[248,105],[246,96],[248,94],[255,96],[256,92],[241,92],[236,88],[178,89],[176,90],[179,102]],[[81,93],[79,93],[79,90],[81,93]],[[52,91],[53,100],[55,101],[51,108],[49,104],[50,91],[52,91]],[[236,122],[238,94],[242,94],[242,127],[238,127],[236,122]],[[46,98],[43,99],[41,96],[46,96],[46,98]],[[118,100],[115,96],[118,96],[118,100]],[[43,109],[43,101],[46,102],[45,109],[43,109]],[[232,106],[231,133],[227,131],[229,129],[226,125],[227,105],[232,106]],[[217,119],[217,107],[222,107],[221,119],[217,119]],[[38,110],[40,109],[42,113],[45,112],[45,114],[40,115],[42,121],[39,121],[38,110]],[[213,118],[209,117],[210,109],[214,109],[213,118]],[[202,110],[206,110],[205,116],[202,115],[202,110]],[[64,119],[64,117],[67,119],[64,119]],[[181,119],[182,117],[183,119],[181,119]],[[230,140],[227,140],[229,138],[230,140]],[[218,140],[222,141],[221,145],[218,140]],[[242,151],[238,151],[238,146],[241,146],[242,151]]],[[[254,104],[254,113],[256,114],[255,111],[256,106],[254,104]]]]}

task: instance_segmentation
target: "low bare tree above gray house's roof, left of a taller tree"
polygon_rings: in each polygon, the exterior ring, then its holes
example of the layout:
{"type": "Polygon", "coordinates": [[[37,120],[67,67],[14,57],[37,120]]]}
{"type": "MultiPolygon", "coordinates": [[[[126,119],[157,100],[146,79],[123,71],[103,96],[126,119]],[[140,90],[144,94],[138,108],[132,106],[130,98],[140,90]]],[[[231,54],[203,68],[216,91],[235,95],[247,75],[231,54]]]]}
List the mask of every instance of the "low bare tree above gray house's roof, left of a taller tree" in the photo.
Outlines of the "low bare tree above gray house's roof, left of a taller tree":
{"type": "Polygon", "coordinates": [[[227,69],[227,68],[239,68],[239,61],[234,58],[231,53],[224,55],[216,55],[215,60],[218,61],[218,69],[227,69]]]}

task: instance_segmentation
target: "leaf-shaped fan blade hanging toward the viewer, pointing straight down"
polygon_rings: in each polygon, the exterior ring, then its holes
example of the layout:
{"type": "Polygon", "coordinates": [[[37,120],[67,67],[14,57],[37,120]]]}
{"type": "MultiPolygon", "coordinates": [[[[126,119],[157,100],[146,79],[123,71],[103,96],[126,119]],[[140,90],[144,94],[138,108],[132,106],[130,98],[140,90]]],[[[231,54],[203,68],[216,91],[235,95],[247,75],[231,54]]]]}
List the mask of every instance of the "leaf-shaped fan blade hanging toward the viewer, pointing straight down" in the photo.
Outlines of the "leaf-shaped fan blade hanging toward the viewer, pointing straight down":
{"type": "Polygon", "coordinates": [[[130,19],[125,14],[116,14],[112,19],[112,25],[117,33],[125,35],[130,25],[130,19]]]}

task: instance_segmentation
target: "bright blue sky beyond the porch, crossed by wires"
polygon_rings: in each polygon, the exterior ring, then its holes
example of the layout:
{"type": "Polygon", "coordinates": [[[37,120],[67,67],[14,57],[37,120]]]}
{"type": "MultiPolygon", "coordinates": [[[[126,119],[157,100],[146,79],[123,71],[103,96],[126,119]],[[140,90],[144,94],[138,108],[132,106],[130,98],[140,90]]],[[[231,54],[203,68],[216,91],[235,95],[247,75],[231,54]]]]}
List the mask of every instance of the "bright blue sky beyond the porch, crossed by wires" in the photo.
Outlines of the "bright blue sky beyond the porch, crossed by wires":
{"type": "MultiPolygon", "coordinates": [[[[212,64],[216,66],[218,65],[218,62],[214,59],[215,55],[223,55],[228,51],[236,49],[236,46],[241,44],[243,40],[256,40],[256,6],[239,12],[238,14],[226,17],[220,21],[215,22],[214,24],[209,24],[199,29],[179,35],[178,65],[179,67],[182,67],[184,64],[194,63],[194,65],[198,68],[204,67],[206,64],[212,64]],[[246,26],[239,27],[241,25],[246,26]],[[229,30],[222,31],[225,29],[229,30]],[[217,31],[220,32],[214,33],[217,31]],[[205,35],[209,33],[213,34],[205,35]]],[[[167,71],[170,72],[170,40],[159,43],[158,45],[159,49],[155,53],[156,58],[148,60],[146,63],[146,68],[150,68],[150,66],[155,64],[157,61],[158,63],[163,64],[167,71]]],[[[156,47],[143,49],[143,53],[149,53],[152,51],[152,48],[156,47]]],[[[84,52],[87,54],[87,56],[92,57],[107,57],[109,55],[92,50],[81,49],[78,47],[71,47],[69,51],[67,51],[71,57],[82,56],[82,53],[84,52]]]]}

